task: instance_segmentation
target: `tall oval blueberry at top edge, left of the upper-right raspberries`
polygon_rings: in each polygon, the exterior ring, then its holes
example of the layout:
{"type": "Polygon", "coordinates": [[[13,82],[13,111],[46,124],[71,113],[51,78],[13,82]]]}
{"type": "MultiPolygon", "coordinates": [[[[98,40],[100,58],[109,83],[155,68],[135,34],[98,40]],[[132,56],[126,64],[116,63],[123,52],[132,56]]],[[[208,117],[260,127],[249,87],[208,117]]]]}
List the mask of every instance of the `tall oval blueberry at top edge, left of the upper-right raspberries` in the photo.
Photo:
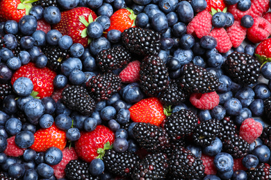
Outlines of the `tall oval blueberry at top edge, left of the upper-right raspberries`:
{"type": "Polygon", "coordinates": [[[188,1],[181,1],[178,3],[177,7],[177,14],[179,16],[179,21],[183,23],[188,23],[192,21],[194,17],[194,10],[188,1]]]}

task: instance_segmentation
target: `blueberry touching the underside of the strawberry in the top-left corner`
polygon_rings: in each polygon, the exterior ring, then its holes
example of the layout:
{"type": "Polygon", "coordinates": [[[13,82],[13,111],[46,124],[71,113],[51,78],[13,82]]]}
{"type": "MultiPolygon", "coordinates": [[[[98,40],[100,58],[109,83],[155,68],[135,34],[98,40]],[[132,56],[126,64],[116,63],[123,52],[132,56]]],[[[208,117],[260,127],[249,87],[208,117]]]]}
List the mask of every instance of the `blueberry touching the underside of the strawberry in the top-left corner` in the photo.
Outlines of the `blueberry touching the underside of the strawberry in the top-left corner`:
{"type": "Polygon", "coordinates": [[[35,33],[35,30],[37,29],[38,22],[35,17],[31,15],[24,15],[19,20],[19,30],[23,35],[32,35],[35,33]]]}

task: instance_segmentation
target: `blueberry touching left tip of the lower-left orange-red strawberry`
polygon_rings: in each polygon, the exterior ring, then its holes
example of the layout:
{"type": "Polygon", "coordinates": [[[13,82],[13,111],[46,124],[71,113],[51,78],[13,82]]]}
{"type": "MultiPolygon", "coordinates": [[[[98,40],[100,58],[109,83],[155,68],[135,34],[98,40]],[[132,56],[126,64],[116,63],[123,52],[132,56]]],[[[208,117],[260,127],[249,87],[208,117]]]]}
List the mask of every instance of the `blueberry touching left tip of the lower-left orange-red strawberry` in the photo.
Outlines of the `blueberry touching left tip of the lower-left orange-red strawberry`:
{"type": "Polygon", "coordinates": [[[31,147],[35,141],[35,137],[33,132],[30,131],[22,131],[16,134],[15,136],[15,144],[20,148],[31,147]]]}

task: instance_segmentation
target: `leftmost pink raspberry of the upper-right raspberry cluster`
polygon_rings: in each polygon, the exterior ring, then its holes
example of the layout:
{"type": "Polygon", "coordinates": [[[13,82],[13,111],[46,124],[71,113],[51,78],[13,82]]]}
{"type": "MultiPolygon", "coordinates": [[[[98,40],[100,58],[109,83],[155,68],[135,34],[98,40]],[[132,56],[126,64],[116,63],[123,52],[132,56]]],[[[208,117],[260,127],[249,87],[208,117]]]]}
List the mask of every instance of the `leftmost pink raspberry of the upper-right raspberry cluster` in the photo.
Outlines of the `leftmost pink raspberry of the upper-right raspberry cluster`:
{"type": "Polygon", "coordinates": [[[202,38],[212,29],[212,15],[207,10],[203,10],[197,13],[186,28],[186,33],[202,38]]]}

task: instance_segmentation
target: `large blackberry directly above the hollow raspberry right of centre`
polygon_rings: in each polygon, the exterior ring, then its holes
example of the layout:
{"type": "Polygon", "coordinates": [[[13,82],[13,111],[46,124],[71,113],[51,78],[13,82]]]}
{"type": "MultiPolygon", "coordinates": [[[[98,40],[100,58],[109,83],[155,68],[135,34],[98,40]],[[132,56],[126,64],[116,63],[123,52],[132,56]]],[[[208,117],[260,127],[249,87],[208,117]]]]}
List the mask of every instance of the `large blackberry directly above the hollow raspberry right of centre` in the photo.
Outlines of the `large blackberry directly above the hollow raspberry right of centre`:
{"type": "Polygon", "coordinates": [[[187,93],[209,93],[220,86],[218,78],[213,73],[192,63],[183,66],[178,84],[187,93]]]}

